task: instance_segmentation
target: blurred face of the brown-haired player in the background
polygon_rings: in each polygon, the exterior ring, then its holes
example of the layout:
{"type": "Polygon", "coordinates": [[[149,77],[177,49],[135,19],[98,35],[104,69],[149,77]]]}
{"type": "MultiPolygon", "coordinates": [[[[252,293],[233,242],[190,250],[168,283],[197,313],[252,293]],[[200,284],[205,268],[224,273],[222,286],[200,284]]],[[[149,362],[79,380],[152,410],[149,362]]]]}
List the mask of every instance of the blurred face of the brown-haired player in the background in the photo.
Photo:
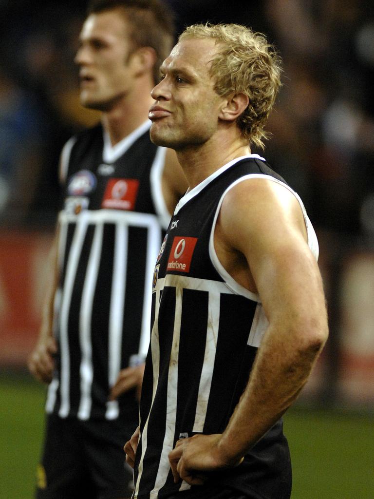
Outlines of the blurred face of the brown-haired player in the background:
{"type": "Polygon", "coordinates": [[[128,33],[126,20],[116,10],[87,17],[75,57],[83,106],[109,111],[131,90],[128,33]]]}

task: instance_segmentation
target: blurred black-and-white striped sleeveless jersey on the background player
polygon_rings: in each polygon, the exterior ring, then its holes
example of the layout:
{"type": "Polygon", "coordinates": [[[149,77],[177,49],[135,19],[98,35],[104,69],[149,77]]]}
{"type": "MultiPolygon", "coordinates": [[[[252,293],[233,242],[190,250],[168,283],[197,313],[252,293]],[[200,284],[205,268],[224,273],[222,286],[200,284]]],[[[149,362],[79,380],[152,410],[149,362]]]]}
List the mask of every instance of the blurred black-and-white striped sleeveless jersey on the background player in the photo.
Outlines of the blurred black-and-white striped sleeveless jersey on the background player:
{"type": "Polygon", "coordinates": [[[98,125],[62,151],[58,353],[47,413],[81,420],[139,417],[134,390],[118,401],[108,395],[120,369],[147,354],[149,282],[170,220],[161,190],[166,149],[152,144],[149,127],[111,147],[98,125]]]}

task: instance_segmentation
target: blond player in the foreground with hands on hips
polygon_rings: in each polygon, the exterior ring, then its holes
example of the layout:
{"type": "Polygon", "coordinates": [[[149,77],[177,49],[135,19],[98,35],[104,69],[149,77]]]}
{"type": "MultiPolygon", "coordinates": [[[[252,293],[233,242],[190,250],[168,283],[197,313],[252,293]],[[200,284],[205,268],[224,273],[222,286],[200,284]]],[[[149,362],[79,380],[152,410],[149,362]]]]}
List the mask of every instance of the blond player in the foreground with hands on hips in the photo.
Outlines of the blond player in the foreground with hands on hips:
{"type": "Polygon", "coordinates": [[[257,154],[279,58],[239,25],[187,28],[153,89],[151,139],[189,184],[153,279],[135,498],[286,499],[281,417],[328,334],[315,232],[257,154]],[[249,379],[249,381],[248,381],[249,379]]]}

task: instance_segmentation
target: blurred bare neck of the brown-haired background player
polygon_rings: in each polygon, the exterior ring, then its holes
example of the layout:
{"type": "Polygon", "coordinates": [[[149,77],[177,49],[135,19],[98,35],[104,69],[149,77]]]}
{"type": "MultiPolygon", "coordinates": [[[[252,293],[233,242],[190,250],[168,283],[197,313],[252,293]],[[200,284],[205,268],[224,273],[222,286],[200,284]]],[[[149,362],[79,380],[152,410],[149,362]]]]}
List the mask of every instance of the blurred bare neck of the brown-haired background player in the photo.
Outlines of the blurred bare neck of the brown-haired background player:
{"type": "Polygon", "coordinates": [[[148,111],[154,100],[151,86],[138,87],[124,96],[112,109],[102,114],[104,130],[109,134],[112,146],[116,145],[148,119],[148,111]]]}

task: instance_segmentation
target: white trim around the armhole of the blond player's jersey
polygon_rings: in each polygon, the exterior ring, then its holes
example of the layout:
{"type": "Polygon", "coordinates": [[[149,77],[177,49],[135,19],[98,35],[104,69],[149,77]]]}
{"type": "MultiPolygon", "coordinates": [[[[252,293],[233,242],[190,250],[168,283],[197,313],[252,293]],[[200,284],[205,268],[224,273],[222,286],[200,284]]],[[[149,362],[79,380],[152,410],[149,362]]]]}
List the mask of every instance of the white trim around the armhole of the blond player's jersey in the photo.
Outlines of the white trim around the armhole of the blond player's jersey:
{"type": "Polygon", "coordinates": [[[211,228],[211,232],[210,232],[210,238],[209,238],[210,260],[211,260],[214,268],[219,273],[219,275],[222,277],[222,279],[224,279],[227,286],[234,293],[243,295],[246,298],[249,298],[253,301],[257,301],[260,303],[261,300],[260,300],[260,297],[258,294],[252,293],[251,291],[249,291],[248,289],[246,289],[245,287],[240,285],[238,282],[236,282],[235,279],[233,279],[233,277],[231,277],[231,275],[227,272],[227,270],[222,266],[221,262],[218,259],[217,253],[215,252],[215,249],[214,249],[214,229],[215,229],[215,224],[217,222],[219,210],[221,209],[221,205],[222,205],[224,197],[226,196],[228,191],[230,189],[232,189],[235,185],[239,184],[239,182],[243,182],[244,180],[249,180],[249,179],[254,179],[254,178],[261,178],[261,179],[271,180],[273,182],[276,182],[277,184],[284,186],[286,189],[288,189],[295,196],[295,198],[298,200],[299,205],[301,207],[301,210],[303,212],[304,222],[305,222],[305,226],[306,226],[306,230],[307,230],[308,246],[309,246],[310,250],[312,251],[316,260],[318,260],[319,248],[318,248],[318,241],[317,241],[316,233],[315,233],[313,226],[309,220],[309,217],[306,213],[304,204],[303,204],[300,196],[293,189],[291,189],[291,187],[289,187],[287,184],[285,184],[284,182],[281,182],[280,180],[278,180],[274,177],[271,177],[269,175],[249,174],[249,175],[245,175],[244,177],[237,179],[235,182],[233,182],[231,185],[229,185],[228,188],[222,194],[222,196],[219,200],[215,215],[214,215],[214,220],[213,220],[213,224],[212,224],[212,228],[211,228]]]}

